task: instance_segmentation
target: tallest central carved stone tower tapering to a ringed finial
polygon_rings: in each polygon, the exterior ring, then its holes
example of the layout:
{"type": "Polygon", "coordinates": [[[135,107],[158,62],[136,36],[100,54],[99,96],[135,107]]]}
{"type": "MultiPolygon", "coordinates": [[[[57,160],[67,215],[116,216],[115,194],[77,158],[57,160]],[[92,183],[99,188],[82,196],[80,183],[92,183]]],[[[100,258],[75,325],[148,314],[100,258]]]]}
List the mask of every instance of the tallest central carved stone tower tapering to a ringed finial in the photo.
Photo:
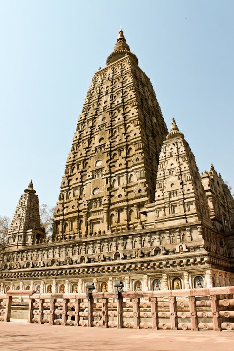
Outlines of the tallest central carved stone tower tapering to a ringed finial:
{"type": "Polygon", "coordinates": [[[149,78],[119,31],[78,118],[55,211],[55,236],[135,228],[153,201],[167,127],[149,78]]]}

